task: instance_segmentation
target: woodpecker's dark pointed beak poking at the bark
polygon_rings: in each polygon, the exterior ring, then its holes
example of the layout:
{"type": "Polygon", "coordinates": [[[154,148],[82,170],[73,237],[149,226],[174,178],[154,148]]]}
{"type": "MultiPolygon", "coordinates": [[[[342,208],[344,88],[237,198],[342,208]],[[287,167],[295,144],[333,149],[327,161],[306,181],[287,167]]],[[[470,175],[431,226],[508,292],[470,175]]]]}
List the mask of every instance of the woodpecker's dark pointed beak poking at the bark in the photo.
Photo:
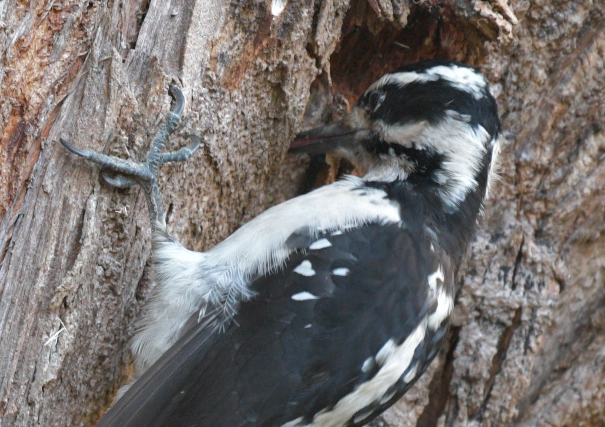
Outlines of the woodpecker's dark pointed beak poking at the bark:
{"type": "Polygon", "coordinates": [[[359,143],[361,132],[362,129],[351,128],[344,120],[340,120],[299,133],[290,143],[290,151],[310,154],[347,152],[359,143]]]}

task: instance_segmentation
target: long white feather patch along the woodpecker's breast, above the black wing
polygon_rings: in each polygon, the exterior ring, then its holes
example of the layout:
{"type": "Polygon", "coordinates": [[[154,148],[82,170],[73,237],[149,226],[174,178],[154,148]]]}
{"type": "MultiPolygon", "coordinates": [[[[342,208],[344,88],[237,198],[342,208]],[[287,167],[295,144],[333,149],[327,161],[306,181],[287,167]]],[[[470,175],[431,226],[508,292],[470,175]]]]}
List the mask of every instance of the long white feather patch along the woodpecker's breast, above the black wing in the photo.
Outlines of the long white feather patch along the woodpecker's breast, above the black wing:
{"type": "Polygon", "coordinates": [[[263,275],[283,264],[290,255],[286,240],[302,227],[319,233],[370,222],[398,223],[398,204],[381,189],[356,191],[363,186],[364,180],[349,176],[287,200],[244,224],[208,253],[244,275],[263,275]]]}

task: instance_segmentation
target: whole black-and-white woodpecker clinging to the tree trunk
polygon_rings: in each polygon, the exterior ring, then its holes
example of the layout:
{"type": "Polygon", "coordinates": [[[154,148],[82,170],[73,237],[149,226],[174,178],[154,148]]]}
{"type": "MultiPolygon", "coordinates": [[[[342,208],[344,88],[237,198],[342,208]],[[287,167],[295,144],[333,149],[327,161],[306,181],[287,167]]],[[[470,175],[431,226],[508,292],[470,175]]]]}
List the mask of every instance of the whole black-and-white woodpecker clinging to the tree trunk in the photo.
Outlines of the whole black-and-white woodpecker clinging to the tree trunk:
{"type": "Polygon", "coordinates": [[[272,207],[208,252],[166,229],[157,184],[175,107],[142,163],[77,149],[116,186],[140,184],[152,220],[154,295],[131,350],[138,379],[99,426],[362,426],[436,356],[454,277],[499,151],[485,77],[457,62],[407,65],[295,152],[339,152],[364,177],[272,207]]]}

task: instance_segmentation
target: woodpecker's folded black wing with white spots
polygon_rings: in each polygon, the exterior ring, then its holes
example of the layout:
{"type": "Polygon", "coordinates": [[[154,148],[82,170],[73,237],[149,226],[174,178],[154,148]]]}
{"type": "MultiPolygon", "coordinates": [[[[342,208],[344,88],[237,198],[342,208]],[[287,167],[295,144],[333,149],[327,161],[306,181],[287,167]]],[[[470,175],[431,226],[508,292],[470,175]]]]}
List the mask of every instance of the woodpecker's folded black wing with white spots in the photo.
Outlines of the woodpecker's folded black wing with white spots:
{"type": "Polygon", "coordinates": [[[428,327],[428,282],[445,271],[453,292],[449,258],[397,224],[292,242],[304,249],[252,283],[225,330],[187,331],[99,425],[340,425],[352,408],[361,425],[407,390],[445,333],[428,327]]]}

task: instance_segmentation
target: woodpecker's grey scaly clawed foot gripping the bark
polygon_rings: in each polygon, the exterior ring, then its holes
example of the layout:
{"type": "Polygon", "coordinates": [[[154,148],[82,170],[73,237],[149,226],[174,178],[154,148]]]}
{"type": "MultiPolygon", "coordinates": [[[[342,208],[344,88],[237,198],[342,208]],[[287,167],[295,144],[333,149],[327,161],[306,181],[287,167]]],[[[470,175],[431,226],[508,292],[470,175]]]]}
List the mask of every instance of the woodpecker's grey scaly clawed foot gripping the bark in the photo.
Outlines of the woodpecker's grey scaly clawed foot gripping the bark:
{"type": "Polygon", "coordinates": [[[190,146],[173,152],[162,152],[169,135],[177,127],[181,114],[183,114],[183,108],[185,107],[185,97],[180,89],[170,86],[170,93],[175,100],[174,108],[166,114],[162,128],[160,128],[151,141],[149,152],[143,162],[137,163],[136,161],[124,160],[113,155],[100,154],[91,149],[79,149],[66,140],[59,139],[61,144],[69,151],[102,166],[105,171],[101,173],[101,176],[111,186],[126,188],[134,184],[140,184],[147,198],[152,227],[155,227],[156,221],[160,226],[165,225],[162,198],[160,197],[157,178],[160,168],[165,163],[189,160],[191,155],[201,145],[200,139],[197,136],[189,135],[189,138],[193,140],[190,146]],[[113,174],[108,174],[107,171],[113,172],[113,174]]]}

